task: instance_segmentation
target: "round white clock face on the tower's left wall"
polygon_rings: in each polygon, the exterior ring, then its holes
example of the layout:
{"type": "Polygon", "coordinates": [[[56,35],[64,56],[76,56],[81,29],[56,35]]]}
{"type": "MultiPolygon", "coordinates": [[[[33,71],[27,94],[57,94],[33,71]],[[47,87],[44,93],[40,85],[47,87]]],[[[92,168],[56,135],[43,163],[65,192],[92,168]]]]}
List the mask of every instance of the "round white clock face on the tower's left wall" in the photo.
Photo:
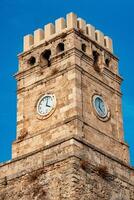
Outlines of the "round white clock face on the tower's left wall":
{"type": "Polygon", "coordinates": [[[40,116],[47,116],[55,107],[55,96],[46,94],[42,96],[37,103],[37,113],[40,116]]]}

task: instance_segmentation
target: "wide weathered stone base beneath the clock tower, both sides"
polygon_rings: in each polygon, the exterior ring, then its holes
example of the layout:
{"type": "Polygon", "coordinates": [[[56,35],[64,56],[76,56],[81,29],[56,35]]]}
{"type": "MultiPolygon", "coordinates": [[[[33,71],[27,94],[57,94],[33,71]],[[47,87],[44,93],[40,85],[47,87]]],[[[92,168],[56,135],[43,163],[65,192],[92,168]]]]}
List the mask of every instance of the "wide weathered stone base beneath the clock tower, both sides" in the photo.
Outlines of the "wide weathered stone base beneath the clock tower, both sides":
{"type": "Polygon", "coordinates": [[[134,170],[80,140],[1,166],[0,200],[134,200],[134,170]]]}

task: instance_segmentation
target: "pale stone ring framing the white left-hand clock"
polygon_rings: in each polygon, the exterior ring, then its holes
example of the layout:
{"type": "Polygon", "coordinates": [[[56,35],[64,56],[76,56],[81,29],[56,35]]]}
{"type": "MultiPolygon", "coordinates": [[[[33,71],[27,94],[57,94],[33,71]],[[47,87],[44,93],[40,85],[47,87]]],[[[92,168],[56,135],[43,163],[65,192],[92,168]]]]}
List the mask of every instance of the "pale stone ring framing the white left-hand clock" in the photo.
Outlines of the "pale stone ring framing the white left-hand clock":
{"type": "Polygon", "coordinates": [[[45,93],[45,94],[40,95],[40,97],[36,101],[36,106],[35,106],[37,118],[38,119],[47,119],[48,117],[50,117],[53,114],[53,112],[55,111],[55,109],[56,109],[56,103],[57,103],[56,102],[56,96],[54,94],[45,93]],[[39,104],[42,101],[42,99],[44,99],[46,96],[51,96],[53,98],[53,106],[52,106],[51,110],[47,114],[41,114],[39,112],[39,110],[38,110],[38,107],[39,107],[39,104]]]}

